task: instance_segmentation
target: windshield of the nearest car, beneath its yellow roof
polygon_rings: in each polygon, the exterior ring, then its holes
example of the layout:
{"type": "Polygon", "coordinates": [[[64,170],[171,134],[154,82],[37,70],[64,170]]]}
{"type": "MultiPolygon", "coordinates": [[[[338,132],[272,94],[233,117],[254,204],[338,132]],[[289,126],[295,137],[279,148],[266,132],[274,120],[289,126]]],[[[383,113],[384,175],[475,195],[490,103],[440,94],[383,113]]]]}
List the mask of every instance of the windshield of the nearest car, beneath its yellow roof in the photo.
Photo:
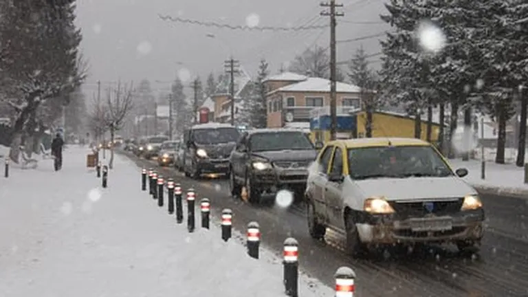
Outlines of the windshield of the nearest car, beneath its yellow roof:
{"type": "Polygon", "coordinates": [[[430,146],[350,148],[352,179],[383,177],[449,177],[454,173],[430,146]]]}

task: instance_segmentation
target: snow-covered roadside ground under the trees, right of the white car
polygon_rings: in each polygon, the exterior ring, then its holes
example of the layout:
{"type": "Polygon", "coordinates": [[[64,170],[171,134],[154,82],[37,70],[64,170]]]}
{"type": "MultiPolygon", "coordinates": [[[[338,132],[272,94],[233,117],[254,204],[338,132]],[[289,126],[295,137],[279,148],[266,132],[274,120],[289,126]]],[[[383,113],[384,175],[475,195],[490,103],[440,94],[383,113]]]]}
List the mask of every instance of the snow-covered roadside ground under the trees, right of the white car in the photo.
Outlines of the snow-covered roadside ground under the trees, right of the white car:
{"type": "Polygon", "coordinates": [[[525,184],[524,168],[514,164],[486,162],[485,179],[481,179],[481,161],[471,159],[448,160],[452,168],[467,168],[469,174],[463,179],[476,188],[503,195],[517,195],[528,198],[528,184],[525,184]]]}

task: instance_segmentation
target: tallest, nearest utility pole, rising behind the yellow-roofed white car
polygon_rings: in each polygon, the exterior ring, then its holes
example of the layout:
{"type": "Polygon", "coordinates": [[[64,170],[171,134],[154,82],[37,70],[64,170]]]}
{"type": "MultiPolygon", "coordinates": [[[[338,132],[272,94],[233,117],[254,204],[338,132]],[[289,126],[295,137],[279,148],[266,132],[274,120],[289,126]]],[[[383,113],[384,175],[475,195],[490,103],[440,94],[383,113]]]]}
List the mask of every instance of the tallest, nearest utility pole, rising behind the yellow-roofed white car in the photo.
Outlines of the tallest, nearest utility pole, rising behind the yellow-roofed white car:
{"type": "Polygon", "coordinates": [[[330,0],[330,3],[321,3],[322,7],[330,8],[330,11],[321,12],[322,16],[330,17],[330,137],[331,140],[336,140],[338,128],[337,115],[337,94],[336,94],[336,26],[338,25],[336,17],[344,16],[342,12],[336,12],[336,8],[343,7],[342,4],[336,3],[336,0],[330,0]]]}

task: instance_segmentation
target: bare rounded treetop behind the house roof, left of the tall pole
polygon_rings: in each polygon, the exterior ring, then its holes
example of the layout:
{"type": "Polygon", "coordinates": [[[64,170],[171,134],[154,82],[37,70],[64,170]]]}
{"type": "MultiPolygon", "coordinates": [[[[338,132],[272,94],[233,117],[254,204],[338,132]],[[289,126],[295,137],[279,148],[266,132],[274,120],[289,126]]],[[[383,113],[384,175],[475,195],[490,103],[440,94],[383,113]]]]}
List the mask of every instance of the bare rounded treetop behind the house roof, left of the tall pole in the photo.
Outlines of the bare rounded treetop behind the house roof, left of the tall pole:
{"type": "Polygon", "coordinates": [[[307,76],[329,78],[330,57],[327,49],[316,45],[297,55],[289,65],[289,71],[307,76]]]}

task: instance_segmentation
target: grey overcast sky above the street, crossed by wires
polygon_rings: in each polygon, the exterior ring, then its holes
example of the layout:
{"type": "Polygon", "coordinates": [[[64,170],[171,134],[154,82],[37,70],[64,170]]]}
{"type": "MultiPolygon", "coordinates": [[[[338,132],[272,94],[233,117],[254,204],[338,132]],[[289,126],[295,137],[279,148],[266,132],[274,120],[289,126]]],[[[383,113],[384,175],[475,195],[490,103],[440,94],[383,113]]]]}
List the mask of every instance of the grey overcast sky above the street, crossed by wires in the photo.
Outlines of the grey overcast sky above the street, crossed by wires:
{"type": "MultiPolygon", "coordinates": [[[[203,79],[209,72],[223,71],[230,54],[250,74],[260,58],[266,58],[272,72],[306,47],[329,44],[329,29],[302,32],[260,32],[210,28],[159,19],[158,14],[246,25],[256,19],[259,26],[298,27],[325,25],[320,17],[320,0],[79,0],[77,23],[83,30],[83,52],[89,61],[85,91],[121,80],[151,80],[153,88],[169,87],[170,80],[190,72],[203,79]],[[255,18],[254,15],[258,18],[255,18]],[[251,16],[251,17],[250,17],[251,16]],[[249,20],[248,20],[249,17],[249,20]],[[214,34],[214,38],[207,35],[214,34]],[[158,82],[158,83],[156,83],[158,82]]],[[[354,39],[384,32],[380,22],[382,0],[343,0],[338,19],[338,40],[354,39]],[[366,22],[366,23],[365,23],[366,22]],[[370,23],[369,23],[370,22],[370,23]]],[[[363,45],[366,52],[379,52],[377,38],[340,43],[338,61],[349,58],[363,45]]],[[[373,58],[376,60],[376,58],[373,58]]]]}

